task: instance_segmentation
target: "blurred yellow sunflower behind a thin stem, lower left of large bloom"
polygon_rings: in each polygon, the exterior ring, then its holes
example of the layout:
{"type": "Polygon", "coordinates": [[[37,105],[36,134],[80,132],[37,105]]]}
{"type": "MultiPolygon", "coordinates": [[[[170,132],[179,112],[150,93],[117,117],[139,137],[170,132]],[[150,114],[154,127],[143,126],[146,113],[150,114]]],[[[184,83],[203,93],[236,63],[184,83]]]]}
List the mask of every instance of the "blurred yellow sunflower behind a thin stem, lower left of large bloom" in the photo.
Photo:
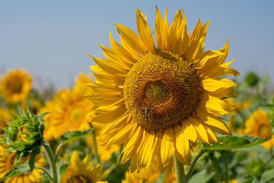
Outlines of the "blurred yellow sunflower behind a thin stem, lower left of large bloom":
{"type": "MultiPolygon", "coordinates": [[[[103,130],[105,128],[105,125],[103,125],[102,123],[92,123],[92,126],[96,127],[95,128],[95,136],[99,136],[99,134],[101,134],[101,132],[103,132],[103,130]]],[[[108,137],[108,136],[104,136],[104,137],[108,137]]],[[[110,138],[110,137],[108,137],[108,138],[110,138]]],[[[107,139],[105,139],[105,138],[97,138],[96,139],[97,152],[98,152],[100,160],[103,162],[108,162],[111,158],[111,155],[114,152],[119,151],[121,149],[120,145],[114,145],[114,146],[110,146],[110,147],[104,147],[102,145],[99,145],[106,140],[107,139]]],[[[93,141],[94,141],[94,139],[92,137],[92,134],[88,134],[88,136],[86,136],[86,145],[88,145],[88,147],[90,147],[91,151],[94,150],[93,141]]]]}

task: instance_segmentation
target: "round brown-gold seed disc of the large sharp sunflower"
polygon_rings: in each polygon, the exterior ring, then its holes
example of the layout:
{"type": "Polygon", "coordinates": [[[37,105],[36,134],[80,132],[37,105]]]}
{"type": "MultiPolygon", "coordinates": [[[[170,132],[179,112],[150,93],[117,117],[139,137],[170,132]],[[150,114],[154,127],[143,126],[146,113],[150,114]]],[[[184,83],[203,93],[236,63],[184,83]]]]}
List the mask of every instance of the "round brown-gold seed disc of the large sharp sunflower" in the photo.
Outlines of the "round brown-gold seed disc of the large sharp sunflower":
{"type": "Polygon", "coordinates": [[[127,74],[125,106],[147,130],[166,130],[196,109],[201,94],[197,71],[170,52],[147,53],[127,74]]]}

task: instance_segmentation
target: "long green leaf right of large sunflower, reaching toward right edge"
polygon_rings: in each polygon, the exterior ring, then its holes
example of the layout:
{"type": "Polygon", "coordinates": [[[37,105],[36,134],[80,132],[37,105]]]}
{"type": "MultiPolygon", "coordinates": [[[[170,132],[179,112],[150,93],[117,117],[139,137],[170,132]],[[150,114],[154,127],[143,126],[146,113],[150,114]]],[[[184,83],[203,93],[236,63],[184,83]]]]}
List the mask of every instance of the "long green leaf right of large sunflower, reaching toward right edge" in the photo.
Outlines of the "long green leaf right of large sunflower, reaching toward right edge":
{"type": "Polygon", "coordinates": [[[219,143],[212,143],[212,145],[203,143],[203,147],[208,150],[221,149],[240,149],[260,145],[269,141],[271,138],[260,138],[256,136],[248,136],[246,134],[233,134],[233,136],[217,136],[219,143]]]}

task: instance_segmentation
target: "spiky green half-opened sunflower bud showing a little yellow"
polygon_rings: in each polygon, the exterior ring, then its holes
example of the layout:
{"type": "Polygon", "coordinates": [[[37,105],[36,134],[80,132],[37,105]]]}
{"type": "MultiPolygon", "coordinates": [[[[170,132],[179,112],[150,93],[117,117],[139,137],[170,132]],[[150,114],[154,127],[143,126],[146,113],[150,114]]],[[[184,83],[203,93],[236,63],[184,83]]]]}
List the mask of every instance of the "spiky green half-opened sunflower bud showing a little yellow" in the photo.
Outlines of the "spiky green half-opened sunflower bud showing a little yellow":
{"type": "Polygon", "coordinates": [[[35,147],[42,143],[45,126],[43,124],[44,114],[36,116],[29,110],[18,109],[18,114],[12,114],[12,121],[8,127],[3,128],[5,136],[2,143],[9,145],[9,152],[26,157],[32,153],[35,147]]]}

